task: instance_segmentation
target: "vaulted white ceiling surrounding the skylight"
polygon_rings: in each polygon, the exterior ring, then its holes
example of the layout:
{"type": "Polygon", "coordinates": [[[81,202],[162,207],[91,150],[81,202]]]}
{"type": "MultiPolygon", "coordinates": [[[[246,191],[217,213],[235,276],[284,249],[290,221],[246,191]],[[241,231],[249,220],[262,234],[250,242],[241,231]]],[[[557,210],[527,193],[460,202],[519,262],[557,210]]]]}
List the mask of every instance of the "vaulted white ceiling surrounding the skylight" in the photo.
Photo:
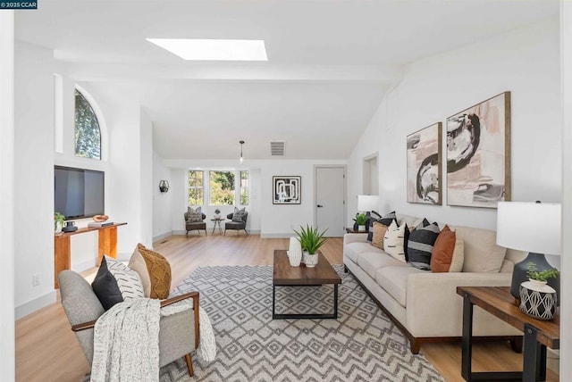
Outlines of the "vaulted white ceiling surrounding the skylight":
{"type": "Polygon", "coordinates": [[[554,16],[558,0],[43,1],[17,39],[142,104],[165,159],[344,159],[404,65],[554,16]],[[264,39],[268,62],[186,62],[146,37],[264,39]]]}

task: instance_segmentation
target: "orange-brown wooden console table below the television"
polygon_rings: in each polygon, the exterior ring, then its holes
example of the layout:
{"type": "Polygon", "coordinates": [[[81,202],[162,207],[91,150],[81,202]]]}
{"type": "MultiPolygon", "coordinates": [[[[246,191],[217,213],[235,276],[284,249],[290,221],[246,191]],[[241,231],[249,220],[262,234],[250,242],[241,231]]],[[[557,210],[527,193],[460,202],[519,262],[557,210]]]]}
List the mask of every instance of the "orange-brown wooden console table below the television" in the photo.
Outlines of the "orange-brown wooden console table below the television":
{"type": "Polygon", "coordinates": [[[86,232],[98,231],[97,264],[101,262],[104,254],[117,258],[117,227],[127,223],[114,223],[106,227],[78,228],[73,232],[62,232],[54,235],[54,287],[59,288],[57,275],[62,270],[71,268],[71,239],[72,235],[85,234],[86,232]]]}

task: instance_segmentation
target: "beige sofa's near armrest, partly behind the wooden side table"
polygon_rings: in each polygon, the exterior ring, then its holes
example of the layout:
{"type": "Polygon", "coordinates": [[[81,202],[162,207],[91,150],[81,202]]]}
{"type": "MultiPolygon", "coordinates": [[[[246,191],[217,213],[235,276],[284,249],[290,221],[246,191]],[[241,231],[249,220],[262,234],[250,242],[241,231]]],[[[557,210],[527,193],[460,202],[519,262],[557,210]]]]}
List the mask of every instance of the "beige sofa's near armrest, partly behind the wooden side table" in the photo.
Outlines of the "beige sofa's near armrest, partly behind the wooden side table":
{"type": "MultiPolygon", "coordinates": [[[[415,273],[408,276],[407,327],[413,336],[461,336],[463,299],[457,286],[510,286],[511,273],[415,273]]],[[[475,336],[517,335],[491,314],[475,308],[475,336]]]]}

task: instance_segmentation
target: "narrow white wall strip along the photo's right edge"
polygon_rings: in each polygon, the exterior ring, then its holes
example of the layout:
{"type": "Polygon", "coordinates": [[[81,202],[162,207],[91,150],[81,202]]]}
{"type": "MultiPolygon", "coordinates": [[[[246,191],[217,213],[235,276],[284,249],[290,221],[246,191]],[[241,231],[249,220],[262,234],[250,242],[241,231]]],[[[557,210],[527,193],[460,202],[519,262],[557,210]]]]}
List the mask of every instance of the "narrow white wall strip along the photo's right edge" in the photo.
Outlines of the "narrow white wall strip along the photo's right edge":
{"type": "Polygon", "coordinates": [[[563,303],[560,305],[560,380],[572,380],[572,328],[566,323],[572,318],[572,2],[561,2],[561,68],[562,68],[562,111],[563,119],[563,172],[562,172],[562,253],[560,293],[563,303]]]}

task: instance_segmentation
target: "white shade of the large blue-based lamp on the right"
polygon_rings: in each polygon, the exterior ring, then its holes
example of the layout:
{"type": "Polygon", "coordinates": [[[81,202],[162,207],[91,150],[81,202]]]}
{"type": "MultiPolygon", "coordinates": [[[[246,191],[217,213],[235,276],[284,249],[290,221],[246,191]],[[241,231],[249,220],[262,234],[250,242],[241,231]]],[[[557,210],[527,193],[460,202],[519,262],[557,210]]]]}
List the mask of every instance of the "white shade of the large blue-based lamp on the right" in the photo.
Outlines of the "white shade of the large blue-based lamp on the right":
{"type": "Polygon", "coordinates": [[[559,203],[499,202],[497,244],[533,253],[561,254],[559,203]]]}

